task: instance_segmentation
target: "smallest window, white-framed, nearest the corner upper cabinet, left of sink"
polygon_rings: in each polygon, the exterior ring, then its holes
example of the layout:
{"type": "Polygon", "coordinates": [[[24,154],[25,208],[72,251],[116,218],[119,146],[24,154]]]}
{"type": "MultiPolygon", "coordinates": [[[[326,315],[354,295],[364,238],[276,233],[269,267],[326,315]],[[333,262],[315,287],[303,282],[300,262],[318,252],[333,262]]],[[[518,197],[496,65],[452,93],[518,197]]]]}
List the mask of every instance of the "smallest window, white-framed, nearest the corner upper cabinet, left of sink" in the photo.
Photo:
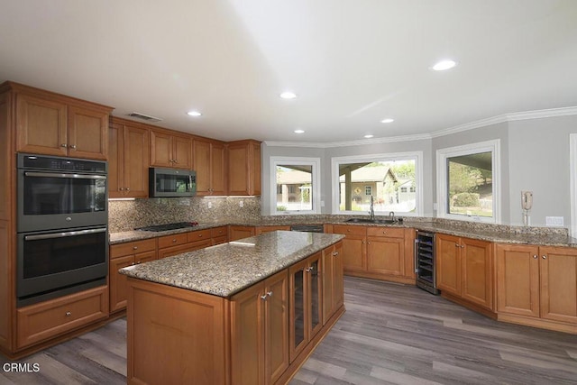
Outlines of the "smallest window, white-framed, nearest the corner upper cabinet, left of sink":
{"type": "Polygon", "coordinates": [[[319,212],[320,159],[270,158],[271,214],[319,212]]]}

